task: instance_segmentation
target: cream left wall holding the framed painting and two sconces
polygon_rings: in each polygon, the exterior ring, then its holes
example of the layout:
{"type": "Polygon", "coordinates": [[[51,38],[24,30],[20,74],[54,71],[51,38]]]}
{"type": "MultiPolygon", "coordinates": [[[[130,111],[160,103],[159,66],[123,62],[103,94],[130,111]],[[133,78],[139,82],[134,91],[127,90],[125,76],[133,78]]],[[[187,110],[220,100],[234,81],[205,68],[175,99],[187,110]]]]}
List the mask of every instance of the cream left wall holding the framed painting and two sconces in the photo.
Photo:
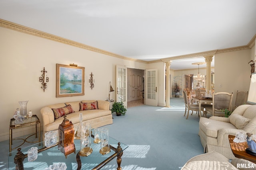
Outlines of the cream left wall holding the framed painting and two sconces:
{"type": "MultiPolygon", "coordinates": [[[[111,57],[3,27],[0,27],[0,37],[0,141],[8,139],[9,122],[16,108],[20,108],[19,101],[28,100],[27,110],[41,119],[40,109],[48,104],[88,99],[106,100],[109,81],[116,88],[117,64],[133,68],[147,67],[144,63],[111,57]],[[56,63],[75,63],[85,67],[84,96],[56,98],[56,63]],[[45,92],[40,88],[39,82],[44,67],[49,77],[45,92]],[[89,83],[91,72],[95,80],[92,90],[89,83]]],[[[111,96],[116,98],[115,93],[111,96]]],[[[14,137],[31,133],[26,129],[15,130],[14,137]]]]}

